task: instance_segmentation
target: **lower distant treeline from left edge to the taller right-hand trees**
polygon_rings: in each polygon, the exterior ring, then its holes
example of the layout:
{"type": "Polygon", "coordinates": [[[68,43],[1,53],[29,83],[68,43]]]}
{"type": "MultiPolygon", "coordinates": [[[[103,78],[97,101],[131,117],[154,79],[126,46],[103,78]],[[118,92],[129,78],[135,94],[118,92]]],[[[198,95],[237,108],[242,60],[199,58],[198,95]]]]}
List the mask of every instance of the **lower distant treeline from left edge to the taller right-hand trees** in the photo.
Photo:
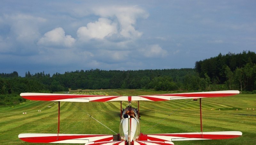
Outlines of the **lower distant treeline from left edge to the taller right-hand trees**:
{"type": "MultiPolygon", "coordinates": [[[[16,73],[16,72],[13,72],[16,73]]],[[[163,70],[80,70],[75,72],[44,72],[30,74],[25,77],[6,74],[0,77],[1,94],[19,94],[22,92],[57,92],[68,91],[68,88],[81,89],[183,89],[186,75],[195,76],[195,69],[163,69],[163,70]],[[12,76],[12,77],[10,77],[12,76]]]]}

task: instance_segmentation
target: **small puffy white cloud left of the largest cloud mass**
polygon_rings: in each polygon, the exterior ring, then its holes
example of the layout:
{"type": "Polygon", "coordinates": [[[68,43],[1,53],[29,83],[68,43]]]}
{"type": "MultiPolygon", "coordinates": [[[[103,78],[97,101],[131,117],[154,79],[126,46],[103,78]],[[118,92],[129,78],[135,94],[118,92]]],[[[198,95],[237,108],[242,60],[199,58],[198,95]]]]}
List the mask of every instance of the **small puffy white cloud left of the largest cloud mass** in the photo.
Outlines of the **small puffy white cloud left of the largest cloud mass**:
{"type": "Polygon", "coordinates": [[[39,39],[39,45],[55,45],[71,47],[75,43],[75,39],[70,35],[65,35],[65,31],[62,28],[55,28],[52,31],[48,31],[42,38],[39,39]]]}

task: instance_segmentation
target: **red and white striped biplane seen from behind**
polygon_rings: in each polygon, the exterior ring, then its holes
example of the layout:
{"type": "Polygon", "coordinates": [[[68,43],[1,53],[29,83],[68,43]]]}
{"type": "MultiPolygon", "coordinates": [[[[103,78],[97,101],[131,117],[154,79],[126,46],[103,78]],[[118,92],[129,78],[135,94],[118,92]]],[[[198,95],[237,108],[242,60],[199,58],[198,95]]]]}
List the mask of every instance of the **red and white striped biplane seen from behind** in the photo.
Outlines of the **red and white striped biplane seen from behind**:
{"type": "Polygon", "coordinates": [[[85,145],[174,145],[173,141],[230,139],[242,135],[240,131],[203,132],[201,98],[226,97],[239,94],[239,91],[213,91],[197,93],[174,93],[140,96],[105,96],[53,93],[21,93],[25,99],[41,101],[58,101],[57,134],[20,134],[19,138],[34,143],[83,143],[85,145]],[[140,132],[139,101],[167,101],[177,99],[200,99],[201,132],[143,134],[140,132]],[[60,134],[60,102],[108,102],[120,101],[120,125],[117,135],[60,134]],[[138,101],[138,108],[131,105],[122,109],[122,101],[138,101]]]}

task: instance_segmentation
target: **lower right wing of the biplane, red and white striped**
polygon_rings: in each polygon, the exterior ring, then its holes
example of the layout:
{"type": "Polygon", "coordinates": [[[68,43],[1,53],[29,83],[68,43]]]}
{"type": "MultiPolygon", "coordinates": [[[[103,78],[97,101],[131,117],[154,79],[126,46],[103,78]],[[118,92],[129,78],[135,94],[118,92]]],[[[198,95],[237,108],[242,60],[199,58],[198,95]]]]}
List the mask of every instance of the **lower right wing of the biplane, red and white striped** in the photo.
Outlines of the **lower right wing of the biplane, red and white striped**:
{"type": "Polygon", "coordinates": [[[203,132],[203,133],[173,133],[173,134],[150,134],[142,135],[141,140],[150,141],[189,141],[189,140],[214,140],[229,139],[242,135],[240,131],[219,131],[219,132],[203,132]]]}

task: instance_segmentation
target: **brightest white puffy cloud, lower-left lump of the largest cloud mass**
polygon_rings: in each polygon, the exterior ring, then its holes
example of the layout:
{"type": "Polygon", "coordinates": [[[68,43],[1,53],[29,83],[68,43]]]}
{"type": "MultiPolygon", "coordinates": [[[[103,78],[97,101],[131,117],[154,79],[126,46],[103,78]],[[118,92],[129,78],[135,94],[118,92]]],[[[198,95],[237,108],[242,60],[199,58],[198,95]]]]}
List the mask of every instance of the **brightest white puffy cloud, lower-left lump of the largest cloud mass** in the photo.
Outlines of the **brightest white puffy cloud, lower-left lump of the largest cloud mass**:
{"type": "Polygon", "coordinates": [[[79,39],[103,39],[106,36],[117,33],[117,28],[116,24],[112,23],[109,19],[99,18],[94,23],[88,23],[86,27],[80,27],[76,33],[79,39]]]}

